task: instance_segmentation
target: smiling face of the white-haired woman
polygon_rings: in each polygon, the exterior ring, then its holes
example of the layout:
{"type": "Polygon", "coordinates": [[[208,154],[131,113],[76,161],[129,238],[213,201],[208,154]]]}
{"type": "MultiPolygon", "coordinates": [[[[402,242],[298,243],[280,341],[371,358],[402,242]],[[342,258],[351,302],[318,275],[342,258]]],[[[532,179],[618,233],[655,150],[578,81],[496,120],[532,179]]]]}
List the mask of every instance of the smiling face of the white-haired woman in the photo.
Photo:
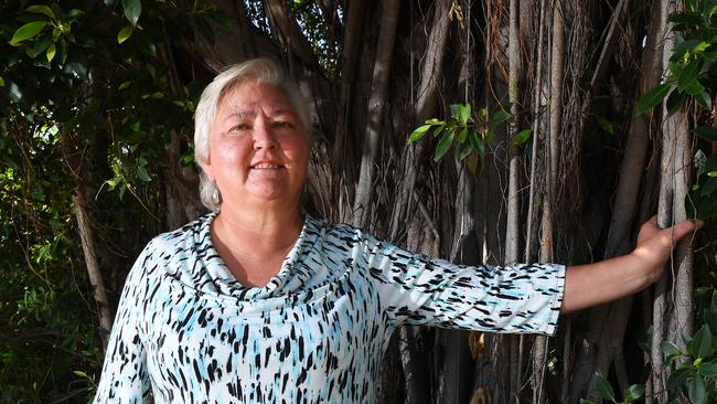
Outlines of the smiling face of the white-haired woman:
{"type": "Polygon", "coordinates": [[[223,206],[298,206],[308,161],[309,141],[281,89],[249,81],[220,100],[203,168],[223,206]]]}

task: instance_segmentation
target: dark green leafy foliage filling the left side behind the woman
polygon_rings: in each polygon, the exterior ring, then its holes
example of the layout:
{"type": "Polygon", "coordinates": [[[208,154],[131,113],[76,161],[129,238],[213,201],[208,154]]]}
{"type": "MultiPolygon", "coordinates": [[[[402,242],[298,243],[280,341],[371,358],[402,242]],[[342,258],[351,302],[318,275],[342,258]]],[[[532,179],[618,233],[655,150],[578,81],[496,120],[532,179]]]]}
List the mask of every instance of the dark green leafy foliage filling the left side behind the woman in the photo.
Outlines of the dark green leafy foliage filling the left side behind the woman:
{"type": "Polygon", "coordinates": [[[176,85],[164,57],[222,15],[208,1],[0,10],[0,402],[76,401],[92,396],[103,352],[72,196],[101,206],[100,264],[129,267],[158,233],[156,179],[176,163],[165,157],[176,138],[192,163],[204,77],[176,85]]]}

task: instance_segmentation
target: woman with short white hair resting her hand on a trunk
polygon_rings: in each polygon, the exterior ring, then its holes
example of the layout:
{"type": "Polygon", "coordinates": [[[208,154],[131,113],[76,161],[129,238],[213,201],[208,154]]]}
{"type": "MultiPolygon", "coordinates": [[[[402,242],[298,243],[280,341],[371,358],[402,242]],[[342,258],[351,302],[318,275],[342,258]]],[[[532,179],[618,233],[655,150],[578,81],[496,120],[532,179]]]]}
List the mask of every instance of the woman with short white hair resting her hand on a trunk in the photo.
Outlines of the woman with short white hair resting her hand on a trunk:
{"type": "Polygon", "coordinates": [[[467,267],[301,213],[308,103],[254,60],[196,109],[202,201],[213,213],[152,240],[127,278],[95,402],[375,401],[400,325],[553,334],[559,312],[655,281],[683,222],[643,225],[627,256],[467,267]],[[672,235],[672,237],[671,237],[672,235]]]}

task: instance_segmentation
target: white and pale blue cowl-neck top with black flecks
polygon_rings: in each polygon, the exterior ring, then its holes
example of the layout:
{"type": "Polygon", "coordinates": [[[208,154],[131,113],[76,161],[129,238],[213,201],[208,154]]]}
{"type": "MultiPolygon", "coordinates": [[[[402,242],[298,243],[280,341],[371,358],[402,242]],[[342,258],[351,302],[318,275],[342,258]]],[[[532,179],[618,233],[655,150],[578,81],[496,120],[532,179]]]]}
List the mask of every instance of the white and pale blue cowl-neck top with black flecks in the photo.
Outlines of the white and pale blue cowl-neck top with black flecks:
{"type": "Polygon", "coordinates": [[[561,265],[453,265],[306,216],[279,273],[245,288],[212,246],[214,217],[142,251],[95,403],[372,403],[398,326],[556,329],[561,265]]]}

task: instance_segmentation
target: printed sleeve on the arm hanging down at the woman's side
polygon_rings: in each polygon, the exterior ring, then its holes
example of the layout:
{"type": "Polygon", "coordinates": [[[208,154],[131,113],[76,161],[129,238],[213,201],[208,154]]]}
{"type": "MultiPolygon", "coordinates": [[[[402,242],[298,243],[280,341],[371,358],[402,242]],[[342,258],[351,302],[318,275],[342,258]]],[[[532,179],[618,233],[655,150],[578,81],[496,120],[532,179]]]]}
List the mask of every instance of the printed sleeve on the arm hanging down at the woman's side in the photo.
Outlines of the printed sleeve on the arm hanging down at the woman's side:
{"type": "MultiPolygon", "coordinates": [[[[151,244],[150,244],[151,245],[151,244]]],[[[140,320],[148,245],[130,270],[115,316],[95,403],[142,403],[150,394],[140,320]]]]}

